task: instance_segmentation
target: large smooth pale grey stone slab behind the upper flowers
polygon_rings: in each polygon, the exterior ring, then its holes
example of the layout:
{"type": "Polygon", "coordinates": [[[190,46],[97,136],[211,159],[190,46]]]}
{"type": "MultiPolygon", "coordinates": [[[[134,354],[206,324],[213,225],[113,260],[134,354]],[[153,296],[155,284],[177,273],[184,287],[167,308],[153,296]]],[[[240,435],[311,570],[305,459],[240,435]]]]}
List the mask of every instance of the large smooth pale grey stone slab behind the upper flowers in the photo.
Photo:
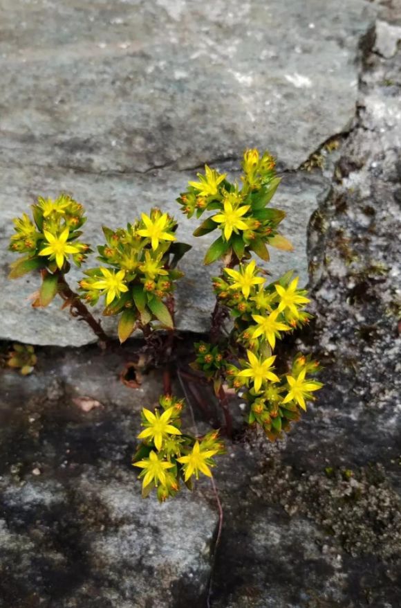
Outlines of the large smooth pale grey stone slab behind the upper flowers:
{"type": "MultiPolygon", "coordinates": [[[[355,114],[358,47],[373,23],[363,0],[3,3],[0,30],[0,247],[10,218],[37,195],[67,190],[88,207],[88,237],[125,224],[152,203],[174,203],[205,161],[238,166],[245,147],[269,147],[283,168],[306,161],[355,114]],[[317,61],[316,58],[319,58],[317,61]],[[230,163],[223,161],[232,160],[230,163]],[[160,170],[157,170],[160,168],[160,170]]],[[[272,256],[278,276],[307,278],[306,229],[328,184],[286,175],[277,203],[292,258],[272,256]]],[[[180,234],[194,242],[191,224],[180,234]]],[[[178,327],[205,330],[212,302],[199,262],[183,262],[178,327]],[[185,302],[185,305],[184,305],[185,302]]],[[[81,346],[93,340],[55,310],[21,303],[32,279],[0,269],[0,337],[81,346]],[[66,331],[68,327],[68,331],[66,331]]]]}

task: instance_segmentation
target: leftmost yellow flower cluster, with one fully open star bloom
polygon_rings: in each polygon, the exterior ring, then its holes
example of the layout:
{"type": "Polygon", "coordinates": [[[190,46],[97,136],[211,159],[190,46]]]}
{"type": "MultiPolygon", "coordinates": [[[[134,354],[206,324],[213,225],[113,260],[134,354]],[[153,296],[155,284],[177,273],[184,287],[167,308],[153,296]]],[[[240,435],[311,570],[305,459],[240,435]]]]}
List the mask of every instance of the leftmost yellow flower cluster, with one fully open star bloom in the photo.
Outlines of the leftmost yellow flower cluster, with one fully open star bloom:
{"type": "Polygon", "coordinates": [[[32,219],[24,213],[12,220],[10,250],[24,256],[11,265],[10,278],[41,268],[66,272],[71,260],[80,266],[90,253],[88,245],[77,240],[86,222],[83,206],[62,194],[55,200],[39,197],[31,208],[32,219]]]}

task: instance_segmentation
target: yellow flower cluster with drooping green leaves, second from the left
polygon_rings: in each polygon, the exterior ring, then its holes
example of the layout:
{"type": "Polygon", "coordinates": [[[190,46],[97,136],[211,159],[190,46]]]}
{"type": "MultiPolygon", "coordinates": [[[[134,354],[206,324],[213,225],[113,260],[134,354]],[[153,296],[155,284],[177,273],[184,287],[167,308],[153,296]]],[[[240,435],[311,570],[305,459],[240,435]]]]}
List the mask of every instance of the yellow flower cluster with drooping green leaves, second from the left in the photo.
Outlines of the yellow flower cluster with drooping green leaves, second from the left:
{"type": "Polygon", "coordinates": [[[115,231],[104,227],[106,244],[98,247],[101,265],[84,272],[80,291],[95,305],[104,297],[104,315],[122,313],[120,341],[136,327],[158,320],[171,328],[173,319],[163,300],[171,298],[174,281],[183,276],[178,260],[189,249],[176,242],[176,221],[153,208],[150,215],[115,231]]]}

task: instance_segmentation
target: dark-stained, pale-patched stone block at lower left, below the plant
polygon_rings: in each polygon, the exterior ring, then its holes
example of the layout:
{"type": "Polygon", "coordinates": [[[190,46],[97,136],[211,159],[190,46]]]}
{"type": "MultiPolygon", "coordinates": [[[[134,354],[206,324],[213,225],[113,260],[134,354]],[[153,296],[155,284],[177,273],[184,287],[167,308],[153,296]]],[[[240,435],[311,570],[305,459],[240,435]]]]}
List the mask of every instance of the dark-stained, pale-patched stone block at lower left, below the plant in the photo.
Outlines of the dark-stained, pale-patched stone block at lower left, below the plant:
{"type": "Polygon", "coordinates": [[[23,384],[3,374],[1,608],[205,605],[216,510],[201,492],[140,498],[131,454],[160,378],[133,391],[123,362],[96,348],[42,353],[23,384]],[[80,411],[84,395],[102,407],[80,411]]]}

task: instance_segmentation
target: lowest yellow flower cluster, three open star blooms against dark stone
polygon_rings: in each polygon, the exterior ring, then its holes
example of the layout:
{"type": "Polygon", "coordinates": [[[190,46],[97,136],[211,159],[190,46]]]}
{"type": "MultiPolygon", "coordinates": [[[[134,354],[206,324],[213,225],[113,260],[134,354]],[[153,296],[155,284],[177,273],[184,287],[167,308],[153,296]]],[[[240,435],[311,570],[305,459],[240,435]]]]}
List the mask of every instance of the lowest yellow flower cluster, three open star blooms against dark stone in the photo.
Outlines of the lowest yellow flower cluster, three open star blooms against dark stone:
{"type": "Polygon", "coordinates": [[[160,411],[154,413],[142,408],[142,427],[138,438],[142,439],[133,466],[142,469],[142,496],[146,497],[156,488],[158,500],[165,501],[175,496],[181,482],[192,490],[192,479],[202,473],[212,476],[214,456],[224,453],[223,442],[218,431],[203,438],[195,438],[181,431],[181,413],[184,401],[171,395],[159,400],[160,411]]]}

